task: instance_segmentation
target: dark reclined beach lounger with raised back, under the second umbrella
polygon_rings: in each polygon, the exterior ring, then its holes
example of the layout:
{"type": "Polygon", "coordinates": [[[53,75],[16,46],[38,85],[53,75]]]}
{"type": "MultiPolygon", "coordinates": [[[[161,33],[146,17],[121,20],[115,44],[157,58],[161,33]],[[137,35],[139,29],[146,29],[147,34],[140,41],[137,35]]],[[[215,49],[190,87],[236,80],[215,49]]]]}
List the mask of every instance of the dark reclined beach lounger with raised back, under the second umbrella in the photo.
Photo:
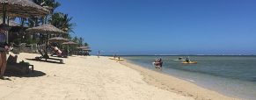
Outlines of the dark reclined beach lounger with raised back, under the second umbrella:
{"type": "Polygon", "coordinates": [[[41,60],[44,59],[45,61],[54,60],[54,61],[60,61],[60,63],[63,63],[63,60],[62,60],[62,59],[50,58],[46,52],[44,52],[44,54],[43,54],[43,52],[41,51],[41,49],[39,49],[38,51],[39,51],[39,53],[41,54],[41,56],[40,56],[40,57],[35,57],[35,60],[36,60],[36,61],[41,61],[41,60]]]}

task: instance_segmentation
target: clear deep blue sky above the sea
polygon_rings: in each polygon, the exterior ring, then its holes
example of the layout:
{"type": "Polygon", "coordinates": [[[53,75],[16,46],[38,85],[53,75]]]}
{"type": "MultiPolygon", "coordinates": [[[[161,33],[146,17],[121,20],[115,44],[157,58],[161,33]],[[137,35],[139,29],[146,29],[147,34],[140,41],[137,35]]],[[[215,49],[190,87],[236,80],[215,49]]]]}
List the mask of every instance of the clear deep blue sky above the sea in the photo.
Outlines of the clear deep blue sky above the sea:
{"type": "Polygon", "coordinates": [[[57,0],[97,54],[256,54],[255,0],[57,0]]]}

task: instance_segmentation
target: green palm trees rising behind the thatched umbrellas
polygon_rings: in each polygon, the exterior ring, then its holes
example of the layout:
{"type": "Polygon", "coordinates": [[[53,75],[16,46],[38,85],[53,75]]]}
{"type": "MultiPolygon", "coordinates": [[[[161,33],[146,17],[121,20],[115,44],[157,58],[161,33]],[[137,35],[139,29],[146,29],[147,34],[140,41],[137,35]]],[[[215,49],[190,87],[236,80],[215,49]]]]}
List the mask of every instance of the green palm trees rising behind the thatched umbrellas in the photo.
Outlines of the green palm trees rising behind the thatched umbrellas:
{"type": "MultiPolygon", "coordinates": [[[[47,8],[50,11],[50,14],[46,18],[19,18],[20,24],[22,26],[27,25],[29,27],[39,26],[44,23],[48,23],[51,25],[55,25],[55,27],[61,29],[64,32],[73,32],[73,27],[76,26],[75,23],[72,23],[72,17],[69,17],[68,14],[64,14],[62,12],[55,12],[55,9],[61,4],[56,0],[32,0],[33,3],[38,4],[42,7],[47,8]]],[[[73,42],[76,42],[78,46],[89,46],[88,43],[84,43],[84,39],[82,37],[71,37],[70,34],[63,36],[73,42]]],[[[24,39],[27,44],[36,43],[36,39],[31,39],[30,37],[26,37],[24,39]]],[[[18,41],[16,41],[18,42],[18,41]]],[[[67,46],[65,46],[67,47],[67,46]]],[[[76,46],[69,46],[71,49],[75,49],[76,46]]]]}

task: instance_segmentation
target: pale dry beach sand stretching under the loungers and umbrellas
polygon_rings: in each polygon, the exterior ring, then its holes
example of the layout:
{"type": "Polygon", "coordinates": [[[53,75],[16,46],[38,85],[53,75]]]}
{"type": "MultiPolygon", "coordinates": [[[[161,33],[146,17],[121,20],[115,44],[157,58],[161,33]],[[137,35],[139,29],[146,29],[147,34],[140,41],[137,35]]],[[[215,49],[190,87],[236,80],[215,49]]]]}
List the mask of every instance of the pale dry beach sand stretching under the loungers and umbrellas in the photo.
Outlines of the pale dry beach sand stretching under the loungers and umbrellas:
{"type": "MultiPolygon", "coordinates": [[[[28,61],[40,54],[18,54],[28,61]]],[[[71,56],[65,64],[28,61],[34,66],[29,75],[5,76],[0,80],[1,100],[190,100],[190,96],[160,89],[140,71],[107,57],[71,56]]],[[[179,81],[179,80],[175,80],[179,81]]],[[[153,81],[154,82],[154,81],[153,81]]],[[[180,84],[182,85],[182,84],[180,84]]],[[[175,86],[175,85],[174,85],[175,86]]],[[[181,86],[179,86],[181,87],[181,86]]],[[[186,90],[186,89],[185,89],[186,90]]]]}

